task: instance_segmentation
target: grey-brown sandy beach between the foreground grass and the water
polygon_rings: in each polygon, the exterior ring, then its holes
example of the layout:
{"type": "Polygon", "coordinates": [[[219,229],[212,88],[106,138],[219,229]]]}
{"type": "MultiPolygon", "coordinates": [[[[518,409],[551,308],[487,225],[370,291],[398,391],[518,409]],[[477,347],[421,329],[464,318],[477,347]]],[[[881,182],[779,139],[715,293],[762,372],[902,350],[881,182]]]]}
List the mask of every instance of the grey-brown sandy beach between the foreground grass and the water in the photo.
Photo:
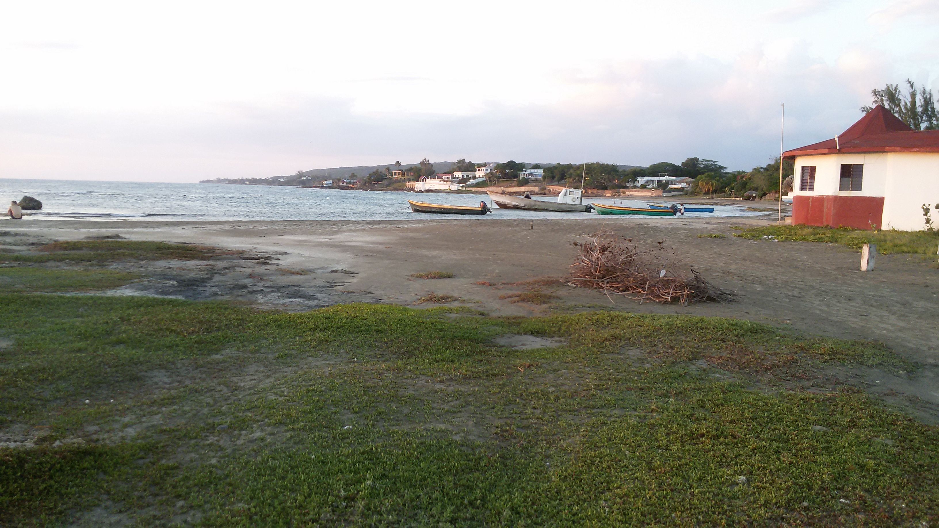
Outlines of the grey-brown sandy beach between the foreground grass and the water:
{"type": "MultiPolygon", "coordinates": [[[[919,256],[878,256],[874,272],[860,272],[856,252],[829,244],[748,241],[732,236],[754,219],[460,220],[387,222],[2,222],[0,231],[37,240],[120,235],[130,240],[182,241],[247,250],[276,260],[244,261],[201,280],[172,278],[135,285],[141,293],[188,299],[244,298],[288,310],[332,303],[414,304],[434,292],[494,315],[536,315],[557,309],[614,308],[745,318],[808,334],[884,342],[919,363],[939,365],[939,275],[919,256]],[[573,262],[573,242],[608,229],[641,243],[664,241],[733,303],[690,306],[608,299],[560,281],[573,262]],[[723,239],[699,238],[719,233],[723,239]],[[247,268],[245,268],[247,267],[247,268]],[[239,270],[236,272],[236,270],[239,270]],[[285,272],[286,271],[286,272],[285,272]],[[294,274],[291,271],[306,274],[294,274]],[[412,273],[443,271],[454,278],[422,280],[412,273]],[[248,278],[248,275],[258,277],[248,278]],[[543,278],[558,302],[511,303],[500,296],[543,278]],[[491,287],[481,286],[488,282],[491,287]],[[247,283],[250,287],[244,286],[247,283]],[[508,283],[508,284],[505,284],[508,283]]],[[[11,240],[9,238],[5,239],[11,240]]],[[[22,243],[22,242],[21,242],[22,243]]],[[[162,270],[162,274],[173,270],[162,270]]],[[[181,272],[181,270],[177,270],[181,272]]]]}

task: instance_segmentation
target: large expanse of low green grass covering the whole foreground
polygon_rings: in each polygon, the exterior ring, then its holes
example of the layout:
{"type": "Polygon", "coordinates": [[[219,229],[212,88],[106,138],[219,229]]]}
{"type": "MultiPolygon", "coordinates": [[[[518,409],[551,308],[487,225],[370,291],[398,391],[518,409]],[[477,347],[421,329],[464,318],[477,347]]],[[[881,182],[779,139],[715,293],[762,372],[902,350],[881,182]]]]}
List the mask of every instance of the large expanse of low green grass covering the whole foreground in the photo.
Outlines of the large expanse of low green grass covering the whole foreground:
{"type": "Polygon", "coordinates": [[[233,252],[17,255],[0,254],[0,524],[937,520],[939,428],[831,375],[919,367],[878,343],[686,315],[116,296],[141,276],[118,260],[233,252]]]}

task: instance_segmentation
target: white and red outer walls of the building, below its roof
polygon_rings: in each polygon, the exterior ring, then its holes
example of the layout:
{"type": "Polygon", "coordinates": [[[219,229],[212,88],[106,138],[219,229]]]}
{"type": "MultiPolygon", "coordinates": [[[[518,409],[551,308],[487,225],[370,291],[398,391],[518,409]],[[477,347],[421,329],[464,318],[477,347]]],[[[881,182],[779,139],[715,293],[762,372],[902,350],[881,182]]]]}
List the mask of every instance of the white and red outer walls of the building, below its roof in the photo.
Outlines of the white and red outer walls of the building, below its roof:
{"type": "MultiPolygon", "coordinates": [[[[793,224],[850,225],[870,229],[922,229],[921,205],[939,203],[939,153],[877,152],[870,154],[823,154],[795,158],[793,175],[793,224]],[[860,191],[839,191],[842,163],[863,163],[860,191]],[[815,190],[802,191],[802,167],[814,165],[815,190]],[[835,196],[825,200],[799,199],[799,196],[835,196]],[[853,197],[883,197],[865,200],[853,197]],[[845,199],[847,198],[847,199],[845,199]],[[828,208],[829,213],[822,210],[828,208]],[[879,210],[878,210],[879,208],[879,210]],[[824,218],[829,223],[819,224],[824,218]],[[840,224],[838,223],[840,222],[840,224]]],[[[939,211],[937,211],[939,212],[939,211]]],[[[935,213],[934,213],[935,214],[935,213]]]]}

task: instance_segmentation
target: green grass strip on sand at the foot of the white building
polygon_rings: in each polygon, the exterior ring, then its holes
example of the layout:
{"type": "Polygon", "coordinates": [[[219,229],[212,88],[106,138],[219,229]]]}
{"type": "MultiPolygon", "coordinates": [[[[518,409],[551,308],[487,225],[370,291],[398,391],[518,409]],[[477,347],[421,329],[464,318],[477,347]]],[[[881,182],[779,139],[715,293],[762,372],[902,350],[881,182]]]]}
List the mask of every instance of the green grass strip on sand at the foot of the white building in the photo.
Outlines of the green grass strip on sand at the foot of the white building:
{"type": "Polygon", "coordinates": [[[739,233],[734,237],[762,240],[765,236],[780,241],[827,242],[860,249],[865,243],[877,244],[881,254],[908,253],[934,256],[939,247],[936,231],[867,231],[850,227],[819,227],[816,225],[765,225],[762,227],[732,227],[739,233]]]}

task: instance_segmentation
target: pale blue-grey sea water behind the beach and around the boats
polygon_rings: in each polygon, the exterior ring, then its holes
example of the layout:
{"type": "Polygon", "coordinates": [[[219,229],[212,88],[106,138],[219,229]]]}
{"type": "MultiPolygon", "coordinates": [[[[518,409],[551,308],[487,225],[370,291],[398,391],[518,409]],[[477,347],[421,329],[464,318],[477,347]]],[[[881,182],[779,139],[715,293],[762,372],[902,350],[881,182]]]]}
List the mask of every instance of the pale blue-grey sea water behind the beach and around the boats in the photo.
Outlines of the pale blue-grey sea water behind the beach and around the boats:
{"type": "MultiPolygon", "coordinates": [[[[391,193],[300,189],[265,185],[209,183],[146,183],[133,181],[71,181],[52,179],[0,179],[0,200],[9,204],[24,194],[38,198],[42,210],[24,211],[31,219],[72,220],[427,220],[455,218],[411,212],[408,200],[450,205],[490,207],[485,194],[391,193]]],[[[585,198],[598,203],[646,207],[645,201],[622,198],[585,198]]],[[[4,209],[5,210],[5,209],[4,209]]],[[[717,206],[714,214],[687,213],[685,217],[753,216],[741,206],[717,206]]],[[[535,212],[496,209],[491,218],[595,218],[586,212],[535,212]]],[[[661,217],[668,221],[671,217],[661,217]]]]}

